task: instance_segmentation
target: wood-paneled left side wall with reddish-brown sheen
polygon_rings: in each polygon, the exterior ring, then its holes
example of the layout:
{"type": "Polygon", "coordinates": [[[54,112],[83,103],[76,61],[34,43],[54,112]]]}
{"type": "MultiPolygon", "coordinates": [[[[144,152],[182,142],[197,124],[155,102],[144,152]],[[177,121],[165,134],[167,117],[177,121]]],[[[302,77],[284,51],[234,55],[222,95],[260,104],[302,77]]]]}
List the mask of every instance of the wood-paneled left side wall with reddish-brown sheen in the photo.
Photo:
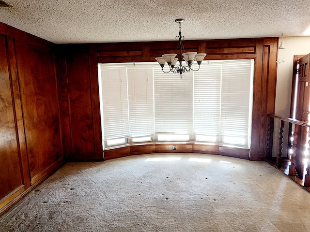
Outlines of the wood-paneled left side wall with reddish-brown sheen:
{"type": "Polygon", "coordinates": [[[0,214],[64,163],[52,48],[0,24],[0,214]]]}

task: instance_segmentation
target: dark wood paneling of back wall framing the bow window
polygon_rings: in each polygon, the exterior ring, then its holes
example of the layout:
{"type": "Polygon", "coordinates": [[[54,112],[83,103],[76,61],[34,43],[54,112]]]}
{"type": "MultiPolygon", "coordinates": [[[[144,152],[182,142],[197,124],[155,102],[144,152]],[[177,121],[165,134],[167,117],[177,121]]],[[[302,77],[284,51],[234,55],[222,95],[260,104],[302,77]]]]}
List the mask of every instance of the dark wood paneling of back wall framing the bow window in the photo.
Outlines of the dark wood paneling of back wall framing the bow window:
{"type": "MultiPolygon", "coordinates": [[[[67,62],[61,65],[65,69],[62,73],[68,83],[68,87],[62,87],[62,92],[69,92],[65,103],[69,109],[64,108],[63,111],[72,112],[68,114],[67,121],[71,122],[72,130],[75,128],[71,136],[67,136],[72,139],[69,145],[72,147],[69,149],[71,153],[67,153],[70,159],[102,159],[97,64],[155,61],[155,57],[161,54],[175,52],[175,46],[176,41],[62,46],[60,51],[67,62]]],[[[255,60],[249,160],[264,160],[267,114],[274,113],[275,107],[278,38],[185,41],[184,46],[186,51],[207,53],[207,60],[255,60]]]]}

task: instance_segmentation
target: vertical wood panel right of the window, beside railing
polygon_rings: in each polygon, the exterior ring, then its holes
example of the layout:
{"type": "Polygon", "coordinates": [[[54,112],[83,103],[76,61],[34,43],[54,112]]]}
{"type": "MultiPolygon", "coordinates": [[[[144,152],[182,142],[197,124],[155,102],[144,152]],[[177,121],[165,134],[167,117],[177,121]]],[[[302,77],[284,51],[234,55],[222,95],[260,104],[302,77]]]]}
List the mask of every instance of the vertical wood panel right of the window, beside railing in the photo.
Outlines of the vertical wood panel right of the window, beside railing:
{"type": "Polygon", "coordinates": [[[267,114],[274,113],[278,40],[260,39],[256,44],[253,86],[250,160],[264,160],[267,143],[267,114]]]}

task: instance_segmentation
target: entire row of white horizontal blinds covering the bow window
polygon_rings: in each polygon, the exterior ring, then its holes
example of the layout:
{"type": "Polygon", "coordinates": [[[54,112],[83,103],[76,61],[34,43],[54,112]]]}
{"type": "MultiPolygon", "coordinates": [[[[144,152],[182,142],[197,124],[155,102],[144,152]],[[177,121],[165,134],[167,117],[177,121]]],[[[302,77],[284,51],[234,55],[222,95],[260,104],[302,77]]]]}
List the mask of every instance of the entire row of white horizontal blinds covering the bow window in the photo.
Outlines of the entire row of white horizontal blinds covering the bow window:
{"type": "Polygon", "coordinates": [[[156,62],[102,64],[104,140],[194,134],[200,141],[247,146],[253,66],[248,59],[203,62],[180,79],[156,62]]]}

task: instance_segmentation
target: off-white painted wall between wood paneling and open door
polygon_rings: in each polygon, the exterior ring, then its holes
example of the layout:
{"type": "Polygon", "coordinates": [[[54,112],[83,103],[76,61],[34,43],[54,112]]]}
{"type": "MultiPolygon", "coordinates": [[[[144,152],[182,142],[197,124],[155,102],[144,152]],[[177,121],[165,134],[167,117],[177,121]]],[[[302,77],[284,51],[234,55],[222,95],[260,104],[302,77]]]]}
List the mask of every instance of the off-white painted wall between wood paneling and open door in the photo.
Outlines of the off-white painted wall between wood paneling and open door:
{"type": "Polygon", "coordinates": [[[275,114],[289,117],[294,55],[310,53],[310,37],[280,37],[279,42],[284,42],[286,48],[278,53],[279,60],[284,58],[284,62],[278,64],[275,114]]]}

